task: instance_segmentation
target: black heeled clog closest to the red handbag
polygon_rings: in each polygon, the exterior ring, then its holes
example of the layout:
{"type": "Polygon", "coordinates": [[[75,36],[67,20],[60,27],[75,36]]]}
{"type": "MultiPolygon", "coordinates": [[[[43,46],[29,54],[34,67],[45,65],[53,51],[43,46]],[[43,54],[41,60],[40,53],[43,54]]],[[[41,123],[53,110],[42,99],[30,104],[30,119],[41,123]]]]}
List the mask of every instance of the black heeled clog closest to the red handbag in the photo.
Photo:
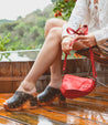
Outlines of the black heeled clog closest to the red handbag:
{"type": "Polygon", "coordinates": [[[60,104],[65,104],[65,97],[58,88],[47,86],[41,94],[37,95],[37,105],[50,105],[55,97],[58,97],[60,104]]]}

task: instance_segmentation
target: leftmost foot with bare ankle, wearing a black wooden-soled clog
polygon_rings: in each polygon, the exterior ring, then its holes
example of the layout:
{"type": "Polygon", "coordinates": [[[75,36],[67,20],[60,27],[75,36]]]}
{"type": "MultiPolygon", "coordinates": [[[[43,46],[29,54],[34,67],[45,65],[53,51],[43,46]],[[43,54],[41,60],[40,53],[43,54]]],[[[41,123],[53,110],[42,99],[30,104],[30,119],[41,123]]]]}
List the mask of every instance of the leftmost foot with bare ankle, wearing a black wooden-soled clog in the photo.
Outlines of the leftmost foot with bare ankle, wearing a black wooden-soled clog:
{"type": "Polygon", "coordinates": [[[14,95],[3,103],[3,107],[7,111],[20,111],[23,108],[23,105],[26,103],[26,101],[30,102],[31,107],[34,107],[37,103],[35,95],[36,90],[33,84],[25,84],[25,82],[23,82],[14,95]]]}

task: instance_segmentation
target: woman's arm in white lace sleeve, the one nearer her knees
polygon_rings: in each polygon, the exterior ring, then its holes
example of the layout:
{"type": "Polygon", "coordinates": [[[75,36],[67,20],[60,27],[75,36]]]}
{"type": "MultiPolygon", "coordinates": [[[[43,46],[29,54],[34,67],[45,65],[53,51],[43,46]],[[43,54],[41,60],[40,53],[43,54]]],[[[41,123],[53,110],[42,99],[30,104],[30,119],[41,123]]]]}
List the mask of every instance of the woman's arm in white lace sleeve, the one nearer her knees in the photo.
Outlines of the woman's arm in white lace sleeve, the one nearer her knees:
{"type": "Polygon", "coordinates": [[[89,17],[88,11],[88,1],[89,0],[77,0],[74,10],[72,11],[71,18],[67,23],[63,25],[62,37],[68,35],[66,29],[68,27],[77,30],[79,25],[86,24],[89,17]],[[86,21],[86,22],[85,22],[86,21]]]}

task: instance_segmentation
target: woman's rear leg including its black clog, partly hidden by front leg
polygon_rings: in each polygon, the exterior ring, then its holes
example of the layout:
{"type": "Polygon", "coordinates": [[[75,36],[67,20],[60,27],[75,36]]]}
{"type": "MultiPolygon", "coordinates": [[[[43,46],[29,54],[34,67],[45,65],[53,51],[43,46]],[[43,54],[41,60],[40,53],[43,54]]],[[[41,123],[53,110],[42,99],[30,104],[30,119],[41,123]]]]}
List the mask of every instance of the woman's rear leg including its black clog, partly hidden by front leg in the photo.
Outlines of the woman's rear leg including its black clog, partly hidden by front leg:
{"type": "MultiPolygon", "coordinates": [[[[65,21],[61,19],[48,20],[45,27],[45,37],[47,37],[48,32],[53,28],[62,29],[64,23],[65,21]]],[[[37,95],[39,105],[51,104],[56,96],[58,96],[61,104],[65,104],[65,97],[62,95],[60,91],[60,87],[62,85],[61,59],[62,59],[62,49],[60,48],[56,59],[51,65],[51,82],[48,86],[41,94],[37,95]]]]}

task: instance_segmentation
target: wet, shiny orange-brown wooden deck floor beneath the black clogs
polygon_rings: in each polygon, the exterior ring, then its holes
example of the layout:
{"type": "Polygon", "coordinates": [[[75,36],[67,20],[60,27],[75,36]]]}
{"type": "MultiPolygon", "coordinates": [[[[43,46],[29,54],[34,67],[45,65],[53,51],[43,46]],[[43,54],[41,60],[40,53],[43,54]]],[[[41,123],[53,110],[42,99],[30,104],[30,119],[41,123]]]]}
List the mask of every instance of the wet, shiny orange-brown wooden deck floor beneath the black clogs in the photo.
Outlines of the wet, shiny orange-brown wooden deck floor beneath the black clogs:
{"type": "Polygon", "coordinates": [[[56,98],[52,105],[34,110],[26,104],[21,112],[4,111],[2,103],[10,96],[0,94],[0,125],[108,125],[108,88],[104,86],[85,97],[66,100],[66,105],[56,98]]]}

